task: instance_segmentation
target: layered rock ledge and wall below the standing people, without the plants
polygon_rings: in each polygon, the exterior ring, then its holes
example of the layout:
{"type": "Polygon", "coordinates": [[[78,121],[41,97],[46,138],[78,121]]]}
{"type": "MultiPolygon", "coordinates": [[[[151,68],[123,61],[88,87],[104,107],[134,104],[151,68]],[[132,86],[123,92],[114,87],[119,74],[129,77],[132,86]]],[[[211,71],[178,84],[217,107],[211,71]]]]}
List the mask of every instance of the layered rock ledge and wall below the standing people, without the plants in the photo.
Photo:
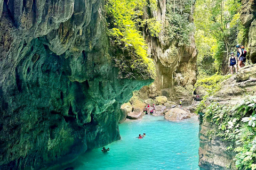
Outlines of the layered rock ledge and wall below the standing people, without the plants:
{"type": "MultiPolygon", "coordinates": [[[[236,105],[243,95],[256,95],[256,65],[243,67],[237,75],[225,80],[221,89],[207,102],[217,101],[221,104],[236,105]]],[[[226,150],[230,143],[216,137],[217,127],[203,121],[199,128],[199,166],[204,169],[236,169],[233,152],[226,150]],[[212,135],[209,135],[212,132],[212,135]],[[211,138],[210,138],[211,137],[211,138]]]]}

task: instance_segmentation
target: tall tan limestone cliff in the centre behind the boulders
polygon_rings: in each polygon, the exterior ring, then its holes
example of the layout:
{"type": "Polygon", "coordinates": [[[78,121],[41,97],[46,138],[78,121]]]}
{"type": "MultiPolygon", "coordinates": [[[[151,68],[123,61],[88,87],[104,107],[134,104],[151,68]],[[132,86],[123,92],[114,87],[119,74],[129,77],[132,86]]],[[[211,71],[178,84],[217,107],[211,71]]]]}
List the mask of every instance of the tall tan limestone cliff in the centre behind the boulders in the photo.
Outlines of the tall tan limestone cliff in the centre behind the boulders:
{"type": "MultiPolygon", "coordinates": [[[[157,77],[150,87],[144,87],[139,92],[142,99],[166,96],[170,101],[182,99],[190,104],[193,96],[193,86],[196,83],[196,56],[195,39],[190,34],[190,45],[179,45],[178,41],[166,42],[169,36],[165,30],[166,24],[166,1],[158,1],[157,10],[148,9],[143,19],[156,18],[163,25],[158,37],[149,35],[147,28],[143,30],[148,44],[148,54],[153,58],[156,65],[157,77]]],[[[194,6],[188,16],[189,22],[193,22],[194,6]]]]}

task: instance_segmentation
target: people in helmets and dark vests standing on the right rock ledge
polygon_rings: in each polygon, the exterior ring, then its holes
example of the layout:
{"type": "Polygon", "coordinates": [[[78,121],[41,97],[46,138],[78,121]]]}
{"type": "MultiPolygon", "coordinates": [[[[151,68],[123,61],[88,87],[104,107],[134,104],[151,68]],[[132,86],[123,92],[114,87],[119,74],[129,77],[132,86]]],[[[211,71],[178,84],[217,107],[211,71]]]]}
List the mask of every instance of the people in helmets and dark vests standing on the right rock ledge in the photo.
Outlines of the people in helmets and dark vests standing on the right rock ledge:
{"type": "Polygon", "coordinates": [[[242,67],[245,66],[245,62],[246,62],[247,51],[244,49],[244,46],[240,46],[238,44],[236,45],[236,49],[237,49],[236,56],[234,55],[234,52],[231,52],[228,60],[228,66],[230,67],[231,75],[233,75],[234,67],[237,73],[237,66],[238,66],[238,69],[241,69],[242,67]]]}

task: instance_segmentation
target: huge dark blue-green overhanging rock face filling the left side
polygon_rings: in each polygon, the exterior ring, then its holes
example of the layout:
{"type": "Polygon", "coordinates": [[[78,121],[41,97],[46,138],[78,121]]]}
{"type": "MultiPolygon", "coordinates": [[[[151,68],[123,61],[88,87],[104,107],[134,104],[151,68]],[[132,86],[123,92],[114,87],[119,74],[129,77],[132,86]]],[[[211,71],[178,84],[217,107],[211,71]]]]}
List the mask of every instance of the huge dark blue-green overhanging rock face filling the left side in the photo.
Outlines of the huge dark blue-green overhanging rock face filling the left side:
{"type": "Polygon", "coordinates": [[[120,139],[103,0],[0,1],[0,169],[48,169],[120,139]]]}

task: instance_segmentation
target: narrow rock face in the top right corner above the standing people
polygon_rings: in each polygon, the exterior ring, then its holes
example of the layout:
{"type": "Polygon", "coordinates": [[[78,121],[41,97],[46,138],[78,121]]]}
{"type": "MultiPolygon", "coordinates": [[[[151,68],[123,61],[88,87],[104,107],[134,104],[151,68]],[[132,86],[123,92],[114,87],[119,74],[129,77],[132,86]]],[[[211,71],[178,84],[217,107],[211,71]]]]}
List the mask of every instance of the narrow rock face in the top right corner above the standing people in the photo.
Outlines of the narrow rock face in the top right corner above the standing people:
{"type": "MultiPolygon", "coordinates": [[[[256,2],[254,0],[242,0],[241,20],[245,28],[249,29],[247,47],[252,63],[256,63],[256,2]]],[[[247,55],[248,56],[248,55],[247,55]]]]}

